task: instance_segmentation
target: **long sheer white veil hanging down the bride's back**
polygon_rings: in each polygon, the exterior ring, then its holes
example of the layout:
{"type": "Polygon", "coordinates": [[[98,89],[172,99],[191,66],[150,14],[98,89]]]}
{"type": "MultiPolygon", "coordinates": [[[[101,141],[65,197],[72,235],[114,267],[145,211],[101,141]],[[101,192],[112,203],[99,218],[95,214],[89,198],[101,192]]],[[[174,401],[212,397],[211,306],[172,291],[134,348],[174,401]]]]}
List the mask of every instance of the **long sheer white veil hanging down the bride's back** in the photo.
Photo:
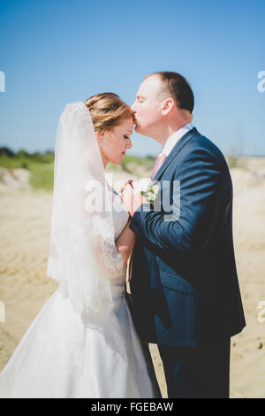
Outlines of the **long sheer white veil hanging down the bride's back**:
{"type": "MultiPolygon", "coordinates": [[[[114,308],[111,273],[104,264],[111,250],[116,250],[112,194],[83,102],[67,104],[60,116],[54,169],[47,275],[59,282],[84,324],[102,331],[114,308]]],[[[117,256],[121,272],[123,260],[117,256]]],[[[115,314],[111,316],[114,320],[115,314]]],[[[115,331],[118,322],[112,324],[115,331]]],[[[113,334],[110,338],[111,343],[120,342],[113,334]]]]}

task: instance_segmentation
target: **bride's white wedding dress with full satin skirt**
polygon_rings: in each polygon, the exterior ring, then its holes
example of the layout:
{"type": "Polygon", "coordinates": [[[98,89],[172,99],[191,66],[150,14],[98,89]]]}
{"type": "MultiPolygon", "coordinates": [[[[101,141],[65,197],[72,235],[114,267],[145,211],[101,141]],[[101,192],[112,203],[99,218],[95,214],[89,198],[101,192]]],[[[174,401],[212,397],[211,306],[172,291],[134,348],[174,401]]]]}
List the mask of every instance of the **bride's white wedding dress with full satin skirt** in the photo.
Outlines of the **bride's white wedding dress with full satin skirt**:
{"type": "MultiPolygon", "coordinates": [[[[128,220],[122,206],[122,212],[112,213],[115,240],[128,220]]],[[[133,326],[125,297],[125,268],[112,281],[111,291],[118,327],[112,327],[110,315],[100,333],[84,326],[69,298],[57,289],[0,374],[0,397],[161,397],[148,347],[133,326]],[[125,354],[108,342],[112,331],[119,331],[125,354]]]]}

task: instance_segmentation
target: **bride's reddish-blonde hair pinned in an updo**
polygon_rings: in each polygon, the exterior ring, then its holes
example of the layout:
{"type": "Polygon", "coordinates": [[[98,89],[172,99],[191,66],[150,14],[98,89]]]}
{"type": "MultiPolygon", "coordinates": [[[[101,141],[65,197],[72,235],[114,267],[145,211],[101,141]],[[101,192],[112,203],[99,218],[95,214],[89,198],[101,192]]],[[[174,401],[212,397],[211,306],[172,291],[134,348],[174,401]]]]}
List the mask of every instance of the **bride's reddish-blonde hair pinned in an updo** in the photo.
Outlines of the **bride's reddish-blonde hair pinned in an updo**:
{"type": "Polygon", "coordinates": [[[111,130],[124,119],[133,119],[133,111],[117,94],[103,92],[85,101],[95,131],[111,130]]]}

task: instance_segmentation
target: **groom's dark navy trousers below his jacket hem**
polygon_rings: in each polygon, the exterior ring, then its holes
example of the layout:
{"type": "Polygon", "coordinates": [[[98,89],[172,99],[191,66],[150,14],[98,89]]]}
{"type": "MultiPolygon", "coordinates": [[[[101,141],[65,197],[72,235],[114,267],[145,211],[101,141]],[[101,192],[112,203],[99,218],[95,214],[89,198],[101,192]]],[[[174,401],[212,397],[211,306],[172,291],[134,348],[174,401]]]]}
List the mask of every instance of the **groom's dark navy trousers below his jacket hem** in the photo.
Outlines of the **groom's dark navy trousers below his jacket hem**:
{"type": "Polygon", "coordinates": [[[231,338],[197,347],[158,345],[169,398],[228,398],[231,338]]]}

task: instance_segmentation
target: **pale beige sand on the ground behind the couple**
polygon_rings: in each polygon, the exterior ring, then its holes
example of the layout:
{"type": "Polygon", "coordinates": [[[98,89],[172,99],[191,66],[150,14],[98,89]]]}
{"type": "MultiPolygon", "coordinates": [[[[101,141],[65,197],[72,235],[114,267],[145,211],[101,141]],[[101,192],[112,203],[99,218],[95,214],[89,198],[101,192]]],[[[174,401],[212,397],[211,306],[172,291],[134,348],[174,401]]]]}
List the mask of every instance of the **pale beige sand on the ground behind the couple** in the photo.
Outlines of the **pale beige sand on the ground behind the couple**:
{"type": "MultiPolygon", "coordinates": [[[[247,323],[241,334],[231,338],[231,397],[265,397],[265,311],[258,309],[261,301],[265,304],[264,166],[263,159],[258,169],[252,161],[248,170],[231,170],[234,245],[247,323]]],[[[0,301],[5,305],[5,322],[0,322],[0,370],[57,289],[57,283],[46,277],[51,197],[49,192],[33,192],[27,186],[23,191],[8,185],[0,189],[0,301]]],[[[156,346],[149,347],[163,397],[167,397],[162,361],[156,346]]]]}

